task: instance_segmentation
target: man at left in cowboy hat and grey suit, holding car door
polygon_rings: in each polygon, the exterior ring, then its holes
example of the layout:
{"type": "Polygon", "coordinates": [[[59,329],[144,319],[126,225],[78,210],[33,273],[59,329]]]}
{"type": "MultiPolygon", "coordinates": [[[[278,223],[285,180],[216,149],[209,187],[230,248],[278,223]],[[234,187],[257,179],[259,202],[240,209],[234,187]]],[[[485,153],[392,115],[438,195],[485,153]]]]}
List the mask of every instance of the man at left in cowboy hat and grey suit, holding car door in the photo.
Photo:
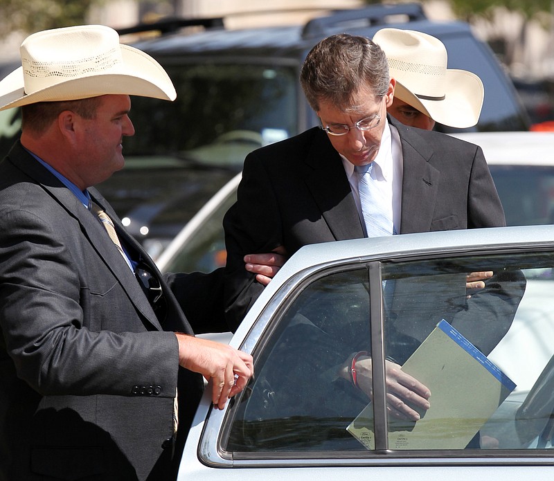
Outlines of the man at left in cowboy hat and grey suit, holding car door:
{"type": "Polygon", "coordinates": [[[175,478],[203,377],[223,408],[253,374],[193,336],[184,276],[166,282],[92,187],[123,167],[129,95],[176,93],[105,26],[30,35],[0,82],[22,111],[0,163],[0,480],[175,478]]]}

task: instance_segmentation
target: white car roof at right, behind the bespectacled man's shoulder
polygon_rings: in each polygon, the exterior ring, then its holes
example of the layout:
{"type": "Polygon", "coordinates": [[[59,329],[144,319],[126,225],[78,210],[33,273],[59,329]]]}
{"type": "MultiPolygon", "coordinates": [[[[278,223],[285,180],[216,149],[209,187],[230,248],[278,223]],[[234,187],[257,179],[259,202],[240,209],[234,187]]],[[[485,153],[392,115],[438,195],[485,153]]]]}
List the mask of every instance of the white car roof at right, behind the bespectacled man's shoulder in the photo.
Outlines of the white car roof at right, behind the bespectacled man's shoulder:
{"type": "Polygon", "coordinates": [[[489,165],[554,165],[554,132],[463,132],[450,135],[479,145],[489,165]]]}

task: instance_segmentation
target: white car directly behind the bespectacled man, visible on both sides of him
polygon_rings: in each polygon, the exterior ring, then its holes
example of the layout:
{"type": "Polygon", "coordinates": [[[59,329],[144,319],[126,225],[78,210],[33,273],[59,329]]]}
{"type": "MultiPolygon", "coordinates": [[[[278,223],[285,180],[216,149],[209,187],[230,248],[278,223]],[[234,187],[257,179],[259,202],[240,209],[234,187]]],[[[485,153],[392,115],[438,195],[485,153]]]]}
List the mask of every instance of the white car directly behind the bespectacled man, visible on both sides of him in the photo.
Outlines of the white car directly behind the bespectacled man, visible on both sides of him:
{"type": "MultiPolygon", "coordinates": [[[[451,134],[480,145],[497,186],[508,226],[553,224],[553,132],[462,132],[451,134]]],[[[236,200],[237,174],[181,229],[157,264],[162,271],[211,272],[225,265],[222,227],[236,200]]]]}

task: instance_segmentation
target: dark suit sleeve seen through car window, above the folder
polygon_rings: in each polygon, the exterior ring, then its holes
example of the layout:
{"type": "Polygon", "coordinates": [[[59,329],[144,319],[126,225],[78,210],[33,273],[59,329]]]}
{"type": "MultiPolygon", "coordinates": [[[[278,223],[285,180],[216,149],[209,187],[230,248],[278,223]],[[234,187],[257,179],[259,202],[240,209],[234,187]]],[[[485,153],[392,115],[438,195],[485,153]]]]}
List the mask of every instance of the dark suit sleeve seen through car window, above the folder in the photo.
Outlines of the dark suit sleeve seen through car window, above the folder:
{"type": "Polygon", "coordinates": [[[387,318],[388,355],[403,364],[441,318],[483,354],[490,354],[512,325],[524,296],[525,276],[499,266],[483,289],[467,291],[465,281],[465,272],[387,281],[393,282],[394,290],[387,318]]]}

